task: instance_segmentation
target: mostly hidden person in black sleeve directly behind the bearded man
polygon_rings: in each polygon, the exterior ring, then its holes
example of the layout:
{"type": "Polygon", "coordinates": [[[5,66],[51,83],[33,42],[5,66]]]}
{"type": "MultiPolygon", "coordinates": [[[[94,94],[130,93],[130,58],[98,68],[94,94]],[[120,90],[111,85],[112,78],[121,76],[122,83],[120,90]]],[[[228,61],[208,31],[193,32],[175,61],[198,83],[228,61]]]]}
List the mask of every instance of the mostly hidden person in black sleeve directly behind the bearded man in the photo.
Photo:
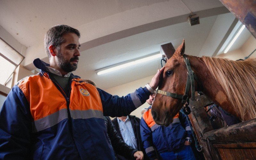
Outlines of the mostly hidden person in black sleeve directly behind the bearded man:
{"type": "MultiPolygon", "coordinates": [[[[96,83],[91,80],[83,81],[92,84],[96,87],[96,83]]],[[[134,149],[131,146],[124,143],[124,141],[118,136],[118,133],[116,132],[116,129],[109,116],[104,116],[104,121],[107,129],[108,140],[112,145],[115,153],[124,156],[127,159],[133,159],[135,157],[136,160],[142,160],[144,156],[143,152],[138,151],[138,149],[134,149]]],[[[116,159],[118,159],[117,156],[116,159]]]]}

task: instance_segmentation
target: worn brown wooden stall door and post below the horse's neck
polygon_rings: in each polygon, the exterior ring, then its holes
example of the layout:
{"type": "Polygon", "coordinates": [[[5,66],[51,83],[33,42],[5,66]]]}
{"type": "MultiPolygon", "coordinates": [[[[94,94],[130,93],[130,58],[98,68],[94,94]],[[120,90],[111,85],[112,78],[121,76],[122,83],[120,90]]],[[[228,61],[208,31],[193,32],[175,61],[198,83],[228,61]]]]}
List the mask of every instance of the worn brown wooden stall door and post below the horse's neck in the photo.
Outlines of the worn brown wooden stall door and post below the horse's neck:
{"type": "Polygon", "coordinates": [[[213,130],[205,106],[212,101],[205,95],[190,99],[189,118],[197,139],[203,146],[205,159],[256,159],[256,118],[213,130]]]}

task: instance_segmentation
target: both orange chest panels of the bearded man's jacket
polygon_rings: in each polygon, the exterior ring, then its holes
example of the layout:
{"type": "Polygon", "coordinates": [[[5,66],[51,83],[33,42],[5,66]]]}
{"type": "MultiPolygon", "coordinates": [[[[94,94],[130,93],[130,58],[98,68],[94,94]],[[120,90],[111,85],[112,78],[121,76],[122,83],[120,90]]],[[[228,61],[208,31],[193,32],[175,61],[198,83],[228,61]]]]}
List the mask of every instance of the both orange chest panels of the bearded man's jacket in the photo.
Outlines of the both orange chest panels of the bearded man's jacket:
{"type": "MultiPolygon", "coordinates": [[[[61,109],[67,109],[67,102],[62,93],[54,83],[45,76],[28,76],[18,83],[30,104],[30,112],[34,121],[49,116],[61,109]],[[33,98],[31,98],[33,97],[33,98]]],[[[70,105],[71,110],[100,110],[103,112],[100,95],[97,89],[85,82],[79,83],[81,79],[74,78],[71,84],[70,105]],[[80,89],[87,90],[90,95],[84,96],[80,89]]]]}

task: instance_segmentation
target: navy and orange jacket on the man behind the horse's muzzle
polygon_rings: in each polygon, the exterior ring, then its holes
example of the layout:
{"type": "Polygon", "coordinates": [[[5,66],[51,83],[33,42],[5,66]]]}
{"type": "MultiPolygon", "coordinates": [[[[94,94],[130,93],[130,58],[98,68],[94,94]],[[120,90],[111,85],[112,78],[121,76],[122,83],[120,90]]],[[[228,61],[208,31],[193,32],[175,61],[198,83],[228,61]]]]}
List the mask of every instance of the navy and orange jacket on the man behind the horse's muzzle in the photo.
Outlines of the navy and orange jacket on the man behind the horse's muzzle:
{"type": "Polygon", "coordinates": [[[159,153],[173,151],[183,147],[192,132],[184,114],[179,112],[168,126],[155,123],[151,115],[151,106],[140,120],[140,135],[145,151],[150,159],[157,159],[159,153]]]}

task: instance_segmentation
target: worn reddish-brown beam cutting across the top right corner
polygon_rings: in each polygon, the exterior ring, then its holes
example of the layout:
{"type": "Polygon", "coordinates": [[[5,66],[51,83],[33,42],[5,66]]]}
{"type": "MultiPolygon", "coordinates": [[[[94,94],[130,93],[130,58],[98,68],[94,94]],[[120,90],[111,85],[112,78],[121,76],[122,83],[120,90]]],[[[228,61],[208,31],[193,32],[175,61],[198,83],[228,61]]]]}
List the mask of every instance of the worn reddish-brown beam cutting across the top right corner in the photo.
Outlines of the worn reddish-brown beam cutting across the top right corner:
{"type": "Polygon", "coordinates": [[[256,38],[255,0],[220,0],[228,10],[240,20],[256,38]]]}

